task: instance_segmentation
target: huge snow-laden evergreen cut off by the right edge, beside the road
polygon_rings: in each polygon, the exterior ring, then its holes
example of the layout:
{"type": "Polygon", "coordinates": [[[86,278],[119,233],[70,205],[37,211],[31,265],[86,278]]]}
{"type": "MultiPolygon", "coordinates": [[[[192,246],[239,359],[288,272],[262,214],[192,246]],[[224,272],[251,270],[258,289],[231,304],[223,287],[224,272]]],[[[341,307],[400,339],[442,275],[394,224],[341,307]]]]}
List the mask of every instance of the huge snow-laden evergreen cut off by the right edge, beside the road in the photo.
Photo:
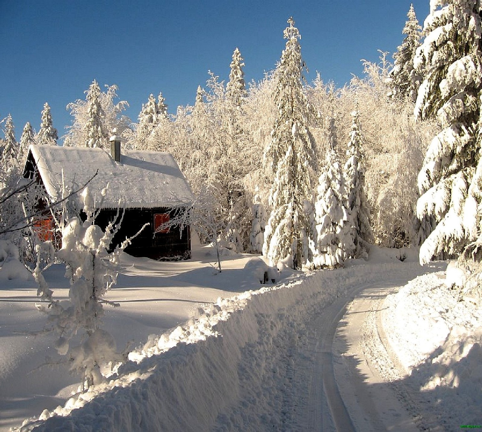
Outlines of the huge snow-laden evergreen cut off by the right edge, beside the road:
{"type": "Polygon", "coordinates": [[[415,56],[415,67],[426,68],[415,117],[436,116],[442,126],[418,175],[417,216],[436,223],[420,248],[421,263],[443,252],[458,255],[472,242],[480,253],[481,14],[476,0],[432,0],[415,56]]]}

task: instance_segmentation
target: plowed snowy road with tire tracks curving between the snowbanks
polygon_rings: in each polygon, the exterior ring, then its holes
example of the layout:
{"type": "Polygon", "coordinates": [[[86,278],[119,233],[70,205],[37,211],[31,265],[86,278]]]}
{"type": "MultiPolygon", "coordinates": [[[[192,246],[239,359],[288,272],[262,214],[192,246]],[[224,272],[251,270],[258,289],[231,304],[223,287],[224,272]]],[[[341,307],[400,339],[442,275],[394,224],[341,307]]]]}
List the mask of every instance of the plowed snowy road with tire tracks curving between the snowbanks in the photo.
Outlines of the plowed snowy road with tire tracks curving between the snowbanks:
{"type": "Polygon", "coordinates": [[[413,277],[403,273],[352,286],[311,322],[315,361],[304,430],[418,431],[397,389],[376,386],[403,374],[386,349],[379,317],[385,297],[413,277]]]}

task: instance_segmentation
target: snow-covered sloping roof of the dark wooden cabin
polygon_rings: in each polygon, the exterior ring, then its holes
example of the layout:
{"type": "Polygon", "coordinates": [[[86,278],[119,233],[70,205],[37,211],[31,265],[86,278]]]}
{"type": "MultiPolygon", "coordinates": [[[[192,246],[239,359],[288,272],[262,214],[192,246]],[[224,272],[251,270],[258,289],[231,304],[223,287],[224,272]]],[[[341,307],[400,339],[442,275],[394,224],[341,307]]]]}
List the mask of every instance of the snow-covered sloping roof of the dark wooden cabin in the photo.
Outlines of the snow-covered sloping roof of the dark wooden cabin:
{"type": "MultiPolygon", "coordinates": [[[[170,153],[122,150],[115,162],[103,148],[31,145],[32,154],[47,193],[52,200],[88,184],[97,208],[175,207],[194,201],[191,188],[170,153]],[[108,188],[102,201],[102,189],[108,188]],[[102,202],[101,202],[102,201],[102,202]]],[[[28,162],[27,162],[28,163],[28,162]]],[[[79,191],[79,195],[82,190],[79,191]]]]}

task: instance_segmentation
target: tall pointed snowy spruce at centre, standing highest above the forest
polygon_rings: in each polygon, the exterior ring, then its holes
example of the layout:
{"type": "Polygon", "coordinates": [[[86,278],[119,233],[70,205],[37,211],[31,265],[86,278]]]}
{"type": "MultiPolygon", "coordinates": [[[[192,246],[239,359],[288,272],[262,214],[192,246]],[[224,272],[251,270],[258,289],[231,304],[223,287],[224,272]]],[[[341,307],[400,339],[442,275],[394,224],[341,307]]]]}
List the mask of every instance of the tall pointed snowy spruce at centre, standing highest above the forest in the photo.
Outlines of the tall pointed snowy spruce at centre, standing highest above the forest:
{"type": "Polygon", "coordinates": [[[312,237],[311,176],[316,164],[314,140],[308,128],[310,110],[303,91],[300,34],[291,17],[284,30],[286,47],[276,68],[274,92],[277,116],[265,149],[265,163],[274,174],[269,195],[271,213],[265,230],[263,255],[271,264],[288,259],[301,269],[310,259],[308,240],[312,237]]]}

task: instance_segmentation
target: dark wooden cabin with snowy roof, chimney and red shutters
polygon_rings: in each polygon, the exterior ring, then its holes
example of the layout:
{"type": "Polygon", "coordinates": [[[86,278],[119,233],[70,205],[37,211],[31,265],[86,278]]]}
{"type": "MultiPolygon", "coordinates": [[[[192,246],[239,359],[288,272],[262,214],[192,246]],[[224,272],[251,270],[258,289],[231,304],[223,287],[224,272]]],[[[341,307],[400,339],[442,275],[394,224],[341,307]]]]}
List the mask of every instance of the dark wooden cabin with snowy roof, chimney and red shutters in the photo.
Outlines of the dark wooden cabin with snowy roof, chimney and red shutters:
{"type": "MultiPolygon", "coordinates": [[[[190,207],[194,201],[187,180],[170,153],[123,150],[120,154],[119,141],[112,143],[111,152],[102,148],[31,145],[24,177],[36,178],[51,202],[61,198],[62,184],[70,190],[78,190],[73,202],[79,211],[83,186],[94,177],[88,189],[98,210],[96,225],[104,229],[115,219],[118,208],[124,209],[114,245],[132,237],[148,223],[125,249],[126,253],[154,259],[190,257],[188,226],[182,227],[182,231],[181,227],[172,227],[156,232],[176,210],[190,207]]],[[[42,207],[41,202],[39,207],[42,207]]],[[[47,237],[53,232],[53,224],[48,212],[37,222],[47,237]]]]}

